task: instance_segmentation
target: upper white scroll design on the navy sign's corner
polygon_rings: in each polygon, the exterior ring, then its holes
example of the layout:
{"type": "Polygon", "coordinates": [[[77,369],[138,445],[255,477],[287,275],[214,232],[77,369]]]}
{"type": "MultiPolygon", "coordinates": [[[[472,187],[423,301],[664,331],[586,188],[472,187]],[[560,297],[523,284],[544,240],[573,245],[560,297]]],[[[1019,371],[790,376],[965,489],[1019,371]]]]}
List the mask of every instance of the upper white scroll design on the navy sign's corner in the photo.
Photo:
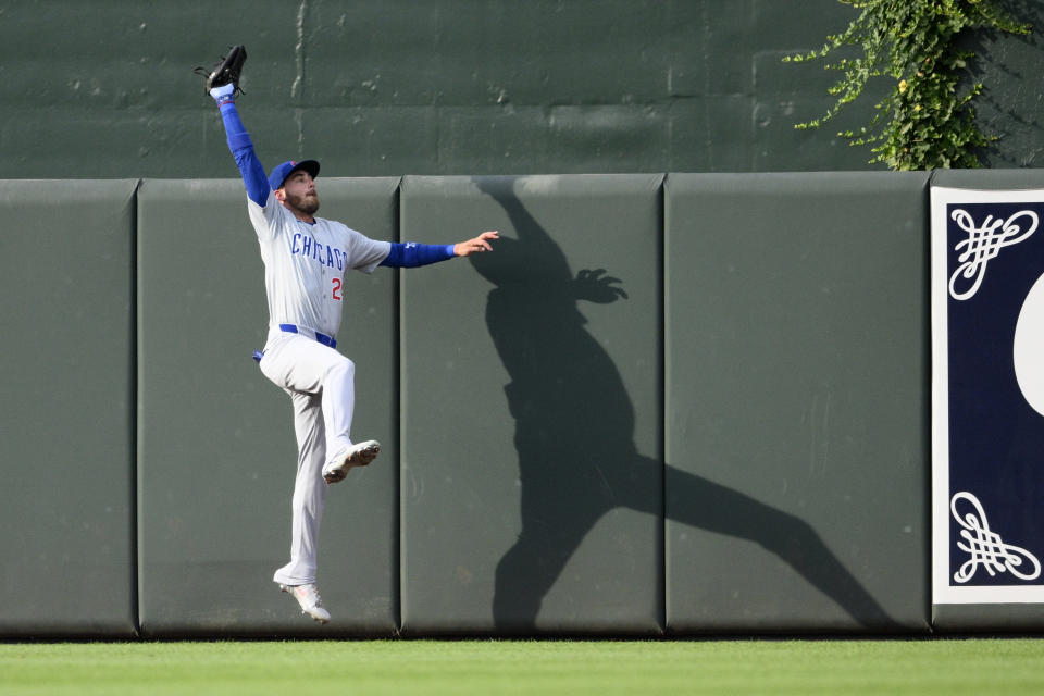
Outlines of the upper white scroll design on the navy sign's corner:
{"type": "Polygon", "coordinates": [[[960,208],[949,216],[968,233],[968,238],[954,247],[954,251],[960,251],[957,257],[960,265],[949,278],[949,295],[955,300],[967,300],[978,293],[986,274],[986,264],[1000,253],[1000,249],[1019,244],[1036,232],[1037,224],[1036,213],[1032,210],[1021,210],[1007,220],[986,215],[980,227],[975,226],[971,214],[960,208]],[[1022,217],[1029,223],[1026,229],[1018,224],[1022,217]],[[966,287],[958,289],[958,285],[966,287]]]}

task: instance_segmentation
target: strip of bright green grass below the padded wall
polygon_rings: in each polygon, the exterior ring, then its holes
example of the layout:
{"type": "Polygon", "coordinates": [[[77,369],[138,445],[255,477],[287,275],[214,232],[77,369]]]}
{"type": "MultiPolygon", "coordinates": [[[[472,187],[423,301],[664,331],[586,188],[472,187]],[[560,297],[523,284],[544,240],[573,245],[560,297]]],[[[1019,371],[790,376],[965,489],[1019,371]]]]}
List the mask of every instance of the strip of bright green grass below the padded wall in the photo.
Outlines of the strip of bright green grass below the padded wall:
{"type": "Polygon", "coordinates": [[[1044,639],[0,644],[0,694],[1040,694],[1044,639]]]}

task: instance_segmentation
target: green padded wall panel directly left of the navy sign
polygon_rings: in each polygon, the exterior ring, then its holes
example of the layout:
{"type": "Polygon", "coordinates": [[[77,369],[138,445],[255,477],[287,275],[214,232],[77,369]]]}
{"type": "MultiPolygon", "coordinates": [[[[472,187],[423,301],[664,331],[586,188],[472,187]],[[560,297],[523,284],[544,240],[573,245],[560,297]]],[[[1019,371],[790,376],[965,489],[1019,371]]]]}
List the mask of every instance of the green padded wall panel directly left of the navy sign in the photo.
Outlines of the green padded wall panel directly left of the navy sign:
{"type": "Polygon", "coordinates": [[[668,176],[669,630],[927,630],[927,181],[668,176]]]}

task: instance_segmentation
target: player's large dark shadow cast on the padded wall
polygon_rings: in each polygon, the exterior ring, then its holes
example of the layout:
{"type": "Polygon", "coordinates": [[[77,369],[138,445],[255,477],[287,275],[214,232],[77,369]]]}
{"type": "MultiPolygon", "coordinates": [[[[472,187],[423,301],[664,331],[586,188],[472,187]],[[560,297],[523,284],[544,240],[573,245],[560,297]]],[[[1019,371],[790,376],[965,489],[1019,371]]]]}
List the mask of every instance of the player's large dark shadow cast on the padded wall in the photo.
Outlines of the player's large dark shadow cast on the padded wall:
{"type": "Polygon", "coordinates": [[[470,257],[496,286],[486,323],[511,377],[505,391],[521,480],[522,531],[496,570],[498,631],[534,632],[544,596],[599,518],[619,507],[659,515],[664,492],[671,519],[756,542],[863,626],[897,629],[804,520],[636,450],[631,399],[577,309],[580,300],[625,298],[620,282],[600,271],[574,276],[511,178],[473,181],[504,207],[517,236],[470,257]]]}

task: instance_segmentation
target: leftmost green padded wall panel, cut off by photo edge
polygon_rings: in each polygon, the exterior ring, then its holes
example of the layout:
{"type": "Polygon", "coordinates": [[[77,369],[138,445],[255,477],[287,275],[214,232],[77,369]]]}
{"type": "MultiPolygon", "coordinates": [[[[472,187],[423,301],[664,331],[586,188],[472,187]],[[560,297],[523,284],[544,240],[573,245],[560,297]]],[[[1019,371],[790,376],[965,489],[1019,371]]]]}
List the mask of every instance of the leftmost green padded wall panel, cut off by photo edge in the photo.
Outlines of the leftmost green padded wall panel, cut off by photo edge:
{"type": "Polygon", "coordinates": [[[0,182],[0,636],[135,632],[136,181],[0,182]]]}

